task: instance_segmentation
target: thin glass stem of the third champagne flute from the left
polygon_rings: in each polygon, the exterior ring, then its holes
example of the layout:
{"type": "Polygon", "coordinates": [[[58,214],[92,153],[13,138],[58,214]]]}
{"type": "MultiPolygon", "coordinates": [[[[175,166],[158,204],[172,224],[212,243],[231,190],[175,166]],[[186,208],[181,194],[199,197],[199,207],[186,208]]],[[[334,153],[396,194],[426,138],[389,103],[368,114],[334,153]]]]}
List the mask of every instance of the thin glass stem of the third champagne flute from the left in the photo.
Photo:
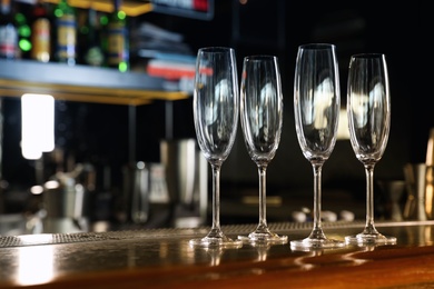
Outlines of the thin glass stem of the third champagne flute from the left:
{"type": "Polygon", "coordinates": [[[310,238],[325,239],[320,220],[320,200],[322,200],[322,171],[323,163],[314,163],[314,228],[310,238]]]}

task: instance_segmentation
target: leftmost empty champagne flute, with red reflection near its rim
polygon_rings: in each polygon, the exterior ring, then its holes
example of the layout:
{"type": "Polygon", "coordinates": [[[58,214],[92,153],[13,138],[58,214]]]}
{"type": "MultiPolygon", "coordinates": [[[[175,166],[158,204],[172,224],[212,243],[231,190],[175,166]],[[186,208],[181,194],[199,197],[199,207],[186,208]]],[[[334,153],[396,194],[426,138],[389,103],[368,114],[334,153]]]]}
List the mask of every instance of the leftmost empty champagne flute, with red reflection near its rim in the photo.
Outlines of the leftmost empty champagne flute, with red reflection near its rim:
{"type": "Polygon", "coordinates": [[[201,247],[240,247],[220,228],[220,168],[235,141],[239,113],[239,87],[235,50],[201,48],[197,53],[194,121],[197,141],[213,170],[213,226],[204,238],[191,239],[201,247]]]}

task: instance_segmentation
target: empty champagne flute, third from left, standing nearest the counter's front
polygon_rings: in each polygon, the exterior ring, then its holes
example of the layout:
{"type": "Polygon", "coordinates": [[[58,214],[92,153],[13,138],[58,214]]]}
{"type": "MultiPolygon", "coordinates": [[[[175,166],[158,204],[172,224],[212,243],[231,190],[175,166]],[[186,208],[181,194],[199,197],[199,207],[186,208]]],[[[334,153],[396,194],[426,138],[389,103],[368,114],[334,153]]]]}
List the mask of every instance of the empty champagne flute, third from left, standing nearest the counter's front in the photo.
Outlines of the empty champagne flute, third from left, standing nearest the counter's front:
{"type": "Polygon", "coordinates": [[[345,246],[344,241],[325,236],[320,219],[322,169],[336,142],[339,93],[336,47],[328,43],[299,46],[294,80],[294,111],[298,142],[314,171],[314,227],[307,238],[290,241],[294,250],[345,246]]]}

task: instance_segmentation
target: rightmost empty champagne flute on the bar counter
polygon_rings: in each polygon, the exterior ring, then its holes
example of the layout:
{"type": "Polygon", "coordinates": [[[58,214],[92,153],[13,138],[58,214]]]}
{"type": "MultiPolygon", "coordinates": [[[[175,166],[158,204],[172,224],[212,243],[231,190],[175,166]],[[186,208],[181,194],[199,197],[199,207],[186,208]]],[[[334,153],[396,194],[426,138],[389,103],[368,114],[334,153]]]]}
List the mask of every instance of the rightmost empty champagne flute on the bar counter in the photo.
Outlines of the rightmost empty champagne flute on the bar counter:
{"type": "Polygon", "coordinates": [[[374,167],[387,144],[391,129],[391,94],[384,54],[352,56],[347,84],[347,114],[351,143],[366,173],[366,225],[347,243],[395,243],[395,237],[379,233],[374,225],[374,167]]]}

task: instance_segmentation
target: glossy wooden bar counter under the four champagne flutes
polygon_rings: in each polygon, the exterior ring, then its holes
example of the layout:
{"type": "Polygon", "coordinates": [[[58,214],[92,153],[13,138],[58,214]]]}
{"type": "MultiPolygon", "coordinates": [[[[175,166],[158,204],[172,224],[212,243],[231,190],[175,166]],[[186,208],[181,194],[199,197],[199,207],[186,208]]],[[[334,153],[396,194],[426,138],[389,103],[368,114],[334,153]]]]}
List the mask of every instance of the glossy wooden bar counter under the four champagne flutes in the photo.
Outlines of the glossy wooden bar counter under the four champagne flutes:
{"type": "MultiPolygon", "coordinates": [[[[312,223],[269,223],[289,240],[312,223]]],[[[361,232],[364,222],[323,223],[328,237],[361,232]]],[[[392,246],[293,251],[191,248],[209,228],[0,238],[0,288],[433,288],[434,221],[378,222],[392,246]]],[[[236,238],[255,225],[223,226],[236,238]]]]}

